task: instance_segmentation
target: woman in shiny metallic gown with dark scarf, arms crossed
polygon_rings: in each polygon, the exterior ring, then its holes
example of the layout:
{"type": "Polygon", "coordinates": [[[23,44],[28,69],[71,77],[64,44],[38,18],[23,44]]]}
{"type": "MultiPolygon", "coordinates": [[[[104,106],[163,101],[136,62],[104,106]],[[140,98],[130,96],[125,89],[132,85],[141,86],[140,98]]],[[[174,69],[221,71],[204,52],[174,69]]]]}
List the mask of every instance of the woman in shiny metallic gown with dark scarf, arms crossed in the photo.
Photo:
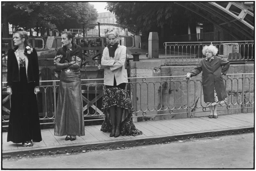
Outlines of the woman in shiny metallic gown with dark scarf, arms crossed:
{"type": "Polygon", "coordinates": [[[66,141],[76,140],[76,136],[84,136],[80,74],[83,54],[81,46],[73,43],[73,40],[72,32],[62,32],[63,47],[58,49],[54,58],[54,65],[61,69],[54,135],[66,135],[66,141]]]}

